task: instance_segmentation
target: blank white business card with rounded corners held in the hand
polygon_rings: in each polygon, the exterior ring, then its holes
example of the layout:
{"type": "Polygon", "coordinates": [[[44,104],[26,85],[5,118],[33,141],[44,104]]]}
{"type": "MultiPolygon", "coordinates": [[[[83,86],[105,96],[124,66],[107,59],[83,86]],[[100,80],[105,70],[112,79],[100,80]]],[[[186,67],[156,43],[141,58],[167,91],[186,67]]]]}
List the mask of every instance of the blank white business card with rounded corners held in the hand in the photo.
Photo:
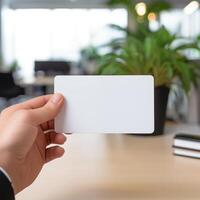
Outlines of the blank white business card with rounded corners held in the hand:
{"type": "Polygon", "coordinates": [[[152,76],[57,76],[54,86],[65,97],[56,132],[154,132],[152,76]]]}

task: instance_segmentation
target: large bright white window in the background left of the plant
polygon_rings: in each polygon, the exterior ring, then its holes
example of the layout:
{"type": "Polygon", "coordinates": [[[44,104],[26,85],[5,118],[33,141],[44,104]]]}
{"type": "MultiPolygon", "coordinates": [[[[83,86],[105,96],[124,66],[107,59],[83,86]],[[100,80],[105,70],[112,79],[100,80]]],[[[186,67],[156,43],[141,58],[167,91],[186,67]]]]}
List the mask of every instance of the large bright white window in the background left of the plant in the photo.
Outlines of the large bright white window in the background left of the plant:
{"type": "Polygon", "coordinates": [[[127,26],[125,9],[17,9],[3,13],[4,57],[17,60],[24,75],[33,73],[35,60],[77,61],[88,45],[121,36],[107,25],[127,26]]]}

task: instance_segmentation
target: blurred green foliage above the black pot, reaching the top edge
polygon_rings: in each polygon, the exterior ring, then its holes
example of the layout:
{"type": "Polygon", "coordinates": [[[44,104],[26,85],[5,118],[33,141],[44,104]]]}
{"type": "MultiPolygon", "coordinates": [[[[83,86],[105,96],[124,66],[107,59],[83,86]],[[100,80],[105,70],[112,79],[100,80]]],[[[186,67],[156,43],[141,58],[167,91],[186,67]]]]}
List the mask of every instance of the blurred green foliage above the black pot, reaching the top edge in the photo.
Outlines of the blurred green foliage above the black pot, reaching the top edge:
{"type": "Polygon", "coordinates": [[[110,48],[110,52],[101,58],[98,74],[153,75],[156,87],[170,86],[178,79],[186,93],[192,84],[197,84],[199,69],[188,60],[185,52],[191,49],[199,51],[200,37],[189,40],[171,34],[163,26],[154,32],[149,28],[149,13],[155,13],[159,22],[161,12],[172,8],[170,3],[164,0],[148,1],[142,17],[136,13],[134,0],[109,0],[108,5],[125,7],[136,22],[136,28],[133,31],[110,25],[125,33],[126,37],[115,38],[104,45],[110,48]]]}

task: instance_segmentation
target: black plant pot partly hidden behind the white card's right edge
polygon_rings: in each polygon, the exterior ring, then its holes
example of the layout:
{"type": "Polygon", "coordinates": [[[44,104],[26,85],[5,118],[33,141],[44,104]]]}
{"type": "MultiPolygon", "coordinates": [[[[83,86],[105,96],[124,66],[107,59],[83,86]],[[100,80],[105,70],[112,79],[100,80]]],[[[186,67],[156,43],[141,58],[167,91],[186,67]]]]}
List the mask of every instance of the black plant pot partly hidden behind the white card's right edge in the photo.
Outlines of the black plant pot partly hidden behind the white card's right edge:
{"type": "Polygon", "coordinates": [[[166,120],[166,110],[170,89],[165,86],[155,88],[155,131],[154,135],[162,135],[166,120]]]}

